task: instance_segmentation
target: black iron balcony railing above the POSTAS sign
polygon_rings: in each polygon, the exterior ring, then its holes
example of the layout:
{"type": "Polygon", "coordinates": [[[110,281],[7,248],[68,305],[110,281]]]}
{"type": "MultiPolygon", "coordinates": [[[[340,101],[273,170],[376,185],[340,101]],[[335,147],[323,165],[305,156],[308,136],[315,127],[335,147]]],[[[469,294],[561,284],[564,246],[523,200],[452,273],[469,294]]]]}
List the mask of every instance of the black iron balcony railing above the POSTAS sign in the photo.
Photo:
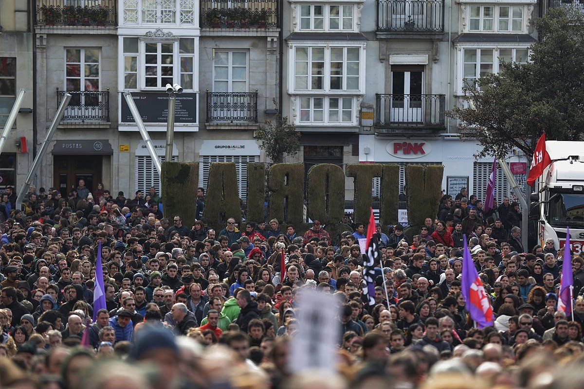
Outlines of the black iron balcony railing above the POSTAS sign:
{"type": "Polygon", "coordinates": [[[72,95],[63,121],[109,122],[109,90],[72,92],[57,90],[57,106],[65,93],[72,95]]]}

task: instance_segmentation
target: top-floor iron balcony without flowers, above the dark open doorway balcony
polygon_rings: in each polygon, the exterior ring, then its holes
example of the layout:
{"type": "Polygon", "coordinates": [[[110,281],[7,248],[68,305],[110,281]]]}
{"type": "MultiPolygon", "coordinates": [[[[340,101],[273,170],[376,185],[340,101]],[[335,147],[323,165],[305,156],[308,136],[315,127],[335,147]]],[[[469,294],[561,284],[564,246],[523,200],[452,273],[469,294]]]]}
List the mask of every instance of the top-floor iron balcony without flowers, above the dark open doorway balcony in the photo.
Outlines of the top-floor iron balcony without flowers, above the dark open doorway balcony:
{"type": "Polygon", "coordinates": [[[442,33],[443,0],[377,0],[377,31],[403,34],[442,33]]]}

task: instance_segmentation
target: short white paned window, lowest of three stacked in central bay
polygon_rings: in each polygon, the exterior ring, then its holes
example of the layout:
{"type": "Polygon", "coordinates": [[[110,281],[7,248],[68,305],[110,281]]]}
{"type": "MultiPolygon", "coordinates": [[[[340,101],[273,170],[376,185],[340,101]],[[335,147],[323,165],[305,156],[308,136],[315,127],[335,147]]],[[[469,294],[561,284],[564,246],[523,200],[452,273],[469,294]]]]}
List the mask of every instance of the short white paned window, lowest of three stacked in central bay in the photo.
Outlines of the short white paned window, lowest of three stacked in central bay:
{"type": "Polygon", "coordinates": [[[300,97],[300,123],[353,124],[353,97],[300,97]]]}

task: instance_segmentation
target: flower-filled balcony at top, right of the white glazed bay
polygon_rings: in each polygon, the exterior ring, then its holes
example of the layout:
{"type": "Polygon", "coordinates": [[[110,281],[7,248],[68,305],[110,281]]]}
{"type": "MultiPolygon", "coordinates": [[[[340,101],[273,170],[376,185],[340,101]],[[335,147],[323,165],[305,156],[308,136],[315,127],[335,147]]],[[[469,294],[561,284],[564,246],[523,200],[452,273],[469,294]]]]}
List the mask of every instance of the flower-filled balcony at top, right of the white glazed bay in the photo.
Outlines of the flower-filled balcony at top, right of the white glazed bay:
{"type": "Polygon", "coordinates": [[[206,29],[277,29],[277,0],[201,0],[200,26],[206,29]]]}

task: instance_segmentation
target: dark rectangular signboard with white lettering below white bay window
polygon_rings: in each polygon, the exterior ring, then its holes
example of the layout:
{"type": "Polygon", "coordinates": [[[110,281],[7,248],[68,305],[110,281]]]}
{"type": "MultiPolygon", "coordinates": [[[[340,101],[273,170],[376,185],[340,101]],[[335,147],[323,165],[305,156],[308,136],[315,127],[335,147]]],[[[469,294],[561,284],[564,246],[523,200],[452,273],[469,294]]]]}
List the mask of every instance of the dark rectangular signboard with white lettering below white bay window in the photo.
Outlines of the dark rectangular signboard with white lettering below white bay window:
{"type": "MultiPolygon", "coordinates": [[[[159,92],[132,92],[134,104],[145,123],[166,123],[168,117],[168,94],[159,92]]],[[[134,123],[134,116],[121,98],[121,122],[134,123]]],[[[197,94],[181,93],[176,96],[175,123],[193,124],[197,122],[197,94]]]]}

